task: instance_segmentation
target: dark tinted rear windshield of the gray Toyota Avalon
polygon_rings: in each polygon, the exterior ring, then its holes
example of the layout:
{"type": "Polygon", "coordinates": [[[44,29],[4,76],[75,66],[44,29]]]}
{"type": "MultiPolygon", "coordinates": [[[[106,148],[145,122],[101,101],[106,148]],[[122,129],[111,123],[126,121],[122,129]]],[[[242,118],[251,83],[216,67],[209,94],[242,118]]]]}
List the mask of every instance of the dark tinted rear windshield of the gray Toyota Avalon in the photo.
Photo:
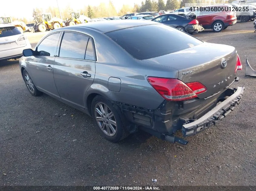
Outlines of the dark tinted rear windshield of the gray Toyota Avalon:
{"type": "Polygon", "coordinates": [[[202,41],[164,24],[151,24],[105,33],[135,59],[144,60],[175,53],[202,41]]]}

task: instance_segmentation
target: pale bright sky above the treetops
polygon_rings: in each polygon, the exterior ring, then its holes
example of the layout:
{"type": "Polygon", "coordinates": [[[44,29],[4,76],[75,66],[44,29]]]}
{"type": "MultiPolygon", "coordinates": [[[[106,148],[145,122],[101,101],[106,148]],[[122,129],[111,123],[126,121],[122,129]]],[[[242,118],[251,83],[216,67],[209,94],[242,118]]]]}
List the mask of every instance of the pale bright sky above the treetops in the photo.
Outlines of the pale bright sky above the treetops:
{"type": "MultiPolygon", "coordinates": [[[[134,3],[141,5],[142,0],[111,0],[116,8],[119,11],[123,4],[130,5],[133,7],[134,3]]],[[[85,5],[96,6],[101,2],[108,3],[109,0],[78,0],[74,1],[75,3],[71,5],[72,0],[58,0],[60,9],[64,9],[67,5],[70,5],[75,11],[80,10],[85,5]]],[[[145,2],[145,0],[144,0],[145,2]]],[[[166,3],[166,0],[164,0],[166,3]]],[[[57,0],[3,0],[1,1],[0,6],[0,16],[13,16],[18,18],[32,18],[33,8],[38,7],[42,9],[48,8],[49,5],[57,7],[57,0]]]]}

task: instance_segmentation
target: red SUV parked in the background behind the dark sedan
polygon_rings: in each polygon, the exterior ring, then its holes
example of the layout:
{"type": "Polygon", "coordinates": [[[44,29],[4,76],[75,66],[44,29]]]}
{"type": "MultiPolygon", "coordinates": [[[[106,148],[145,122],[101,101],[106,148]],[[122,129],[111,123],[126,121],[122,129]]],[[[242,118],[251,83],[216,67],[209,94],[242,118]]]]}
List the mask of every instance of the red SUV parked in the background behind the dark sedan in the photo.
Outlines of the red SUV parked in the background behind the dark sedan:
{"type": "MultiPolygon", "coordinates": [[[[210,9],[228,10],[228,11],[194,11],[197,20],[204,29],[212,29],[214,32],[221,32],[228,26],[233,26],[237,22],[236,12],[232,11],[230,5],[210,5],[210,9]]],[[[207,9],[206,9],[207,10],[207,9]]]]}

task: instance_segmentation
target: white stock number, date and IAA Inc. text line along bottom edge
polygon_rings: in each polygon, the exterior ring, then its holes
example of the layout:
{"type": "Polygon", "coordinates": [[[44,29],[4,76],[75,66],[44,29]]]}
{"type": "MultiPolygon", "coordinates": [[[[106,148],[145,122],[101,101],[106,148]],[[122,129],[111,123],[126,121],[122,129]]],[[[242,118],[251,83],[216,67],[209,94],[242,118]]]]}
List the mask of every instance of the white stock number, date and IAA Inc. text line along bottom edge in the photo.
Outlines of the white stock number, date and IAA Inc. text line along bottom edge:
{"type": "Polygon", "coordinates": [[[94,186],[94,190],[160,190],[155,186],[94,186]]]}

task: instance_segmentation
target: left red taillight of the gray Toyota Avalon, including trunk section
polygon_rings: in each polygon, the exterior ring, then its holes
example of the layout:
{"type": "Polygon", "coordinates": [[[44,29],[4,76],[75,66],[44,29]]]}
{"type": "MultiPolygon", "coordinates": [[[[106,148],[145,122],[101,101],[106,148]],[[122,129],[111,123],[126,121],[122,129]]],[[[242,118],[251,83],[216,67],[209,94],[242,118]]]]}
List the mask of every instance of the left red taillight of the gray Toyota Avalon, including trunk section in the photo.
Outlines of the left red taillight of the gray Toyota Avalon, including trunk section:
{"type": "Polygon", "coordinates": [[[197,97],[197,94],[206,91],[204,85],[199,82],[188,83],[191,89],[182,81],[174,78],[148,77],[148,82],[163,98],[170,101],[189,100],[197,97]],[[198,83],[201,84],[201,86],[198,83]],[[202,90],[202,86],[205,88],[204,91],[202,90]]]}

